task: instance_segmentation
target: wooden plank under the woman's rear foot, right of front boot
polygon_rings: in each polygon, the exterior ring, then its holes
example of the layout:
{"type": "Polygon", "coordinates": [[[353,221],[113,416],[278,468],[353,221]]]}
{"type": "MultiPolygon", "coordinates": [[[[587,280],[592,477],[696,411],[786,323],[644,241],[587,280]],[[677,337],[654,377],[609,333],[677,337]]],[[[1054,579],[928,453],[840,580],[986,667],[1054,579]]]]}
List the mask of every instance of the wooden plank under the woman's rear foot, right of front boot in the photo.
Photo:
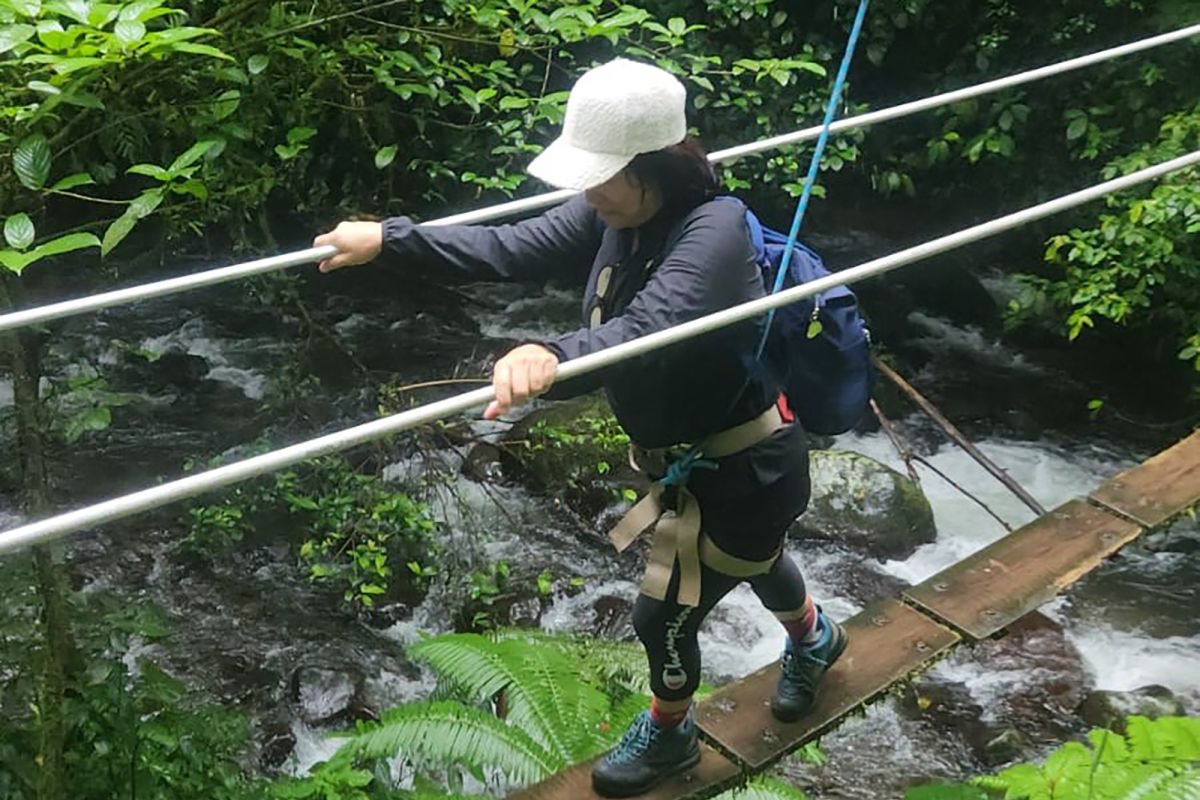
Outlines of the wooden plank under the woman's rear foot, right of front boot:
{"type": "Polygon", "coordinates": [[[770,714],[779,662],[704,699],[696,721],[721,747],[758,770],[824,733],[863,703],[924,666],[959,636],[896,600],[872,604],[846,622],[850,645],[826,674],[812,711],[792,723],[770,714]]]}

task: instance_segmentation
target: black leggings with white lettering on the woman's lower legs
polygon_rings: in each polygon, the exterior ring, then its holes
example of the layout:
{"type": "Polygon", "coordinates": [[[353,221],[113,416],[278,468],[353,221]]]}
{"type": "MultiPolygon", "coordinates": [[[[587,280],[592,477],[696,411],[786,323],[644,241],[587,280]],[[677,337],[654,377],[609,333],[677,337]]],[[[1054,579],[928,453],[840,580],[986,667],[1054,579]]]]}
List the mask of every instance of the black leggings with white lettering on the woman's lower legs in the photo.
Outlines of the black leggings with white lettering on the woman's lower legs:
{"type": "MultiPolygon", "coordinates": [[[[700,643],[696,633],[713,607],[743,581],[773,612],[794,612],[804,606],[806,589],[796,563],[782,553],[766,572],[752,578],[736,578],[701,565],[700,604],[695,608],[673,601],[638,595],[634,603],[634,630],[646,646],[650,662],[650,688],[664,700],[682,700],[700,685],[700,643]]],[[[679,587],[679,565],[671,576],[667,597],[679,587]]]]}

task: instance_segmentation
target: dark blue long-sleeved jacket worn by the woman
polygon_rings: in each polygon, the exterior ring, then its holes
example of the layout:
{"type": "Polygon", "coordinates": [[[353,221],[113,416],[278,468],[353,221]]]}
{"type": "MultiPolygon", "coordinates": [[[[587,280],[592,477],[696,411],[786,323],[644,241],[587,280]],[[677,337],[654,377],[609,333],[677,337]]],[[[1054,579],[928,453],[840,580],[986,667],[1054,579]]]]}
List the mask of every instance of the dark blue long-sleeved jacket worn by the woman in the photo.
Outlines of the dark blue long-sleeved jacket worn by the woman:
{"type": "MultiPolygon", "coordinates": [[[[474,279],[583,285],[583,327],[544,342],[563,361],[761,297],[762,277],[743,209],[704,203],[680,218],[659,215],[612,230],[583,197],[506,225],[418,227],[384,222],[384,260],[450,269],[474,279]],[[635,246],[636,243],[636,246],[635,246]],[[607,299],[596,278],[614,266],[607,299]],[[600,321],[593,308],[600,305],[600,321]]],[[[556,385],[562,398],[604,386],[630,438],[644,447],[696,441],[761,414],[779,393],[755,365],[757,323],[737,325],[556,385]]]]}

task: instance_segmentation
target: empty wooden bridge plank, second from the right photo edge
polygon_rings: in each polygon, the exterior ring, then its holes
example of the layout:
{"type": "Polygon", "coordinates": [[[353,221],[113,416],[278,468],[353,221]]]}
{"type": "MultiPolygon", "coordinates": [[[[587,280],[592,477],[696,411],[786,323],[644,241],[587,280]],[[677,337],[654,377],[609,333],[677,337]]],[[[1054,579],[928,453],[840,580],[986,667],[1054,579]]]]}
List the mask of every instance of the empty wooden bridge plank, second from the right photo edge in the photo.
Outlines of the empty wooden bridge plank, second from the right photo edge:
{"type": "Polygon", "coordinates": [[[1141,531],[1072,500],[907,589],[905,596],[984,639],[1051,600],[1141,531]]]}

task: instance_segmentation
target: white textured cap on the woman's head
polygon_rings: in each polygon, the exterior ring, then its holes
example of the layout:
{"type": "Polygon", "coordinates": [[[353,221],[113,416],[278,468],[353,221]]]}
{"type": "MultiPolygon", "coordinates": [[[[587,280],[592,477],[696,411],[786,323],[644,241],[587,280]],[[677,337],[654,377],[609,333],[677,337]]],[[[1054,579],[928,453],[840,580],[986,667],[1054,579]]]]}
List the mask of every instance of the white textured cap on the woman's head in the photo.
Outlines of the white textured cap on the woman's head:
{"type": "Polygon", "coordinates": [[[683,142],[686,90],[648,64],[614,59],[583,73],[566,98],[563,134],[529,163],[559,188],[604,184],[642,152],[683,142]]]}

